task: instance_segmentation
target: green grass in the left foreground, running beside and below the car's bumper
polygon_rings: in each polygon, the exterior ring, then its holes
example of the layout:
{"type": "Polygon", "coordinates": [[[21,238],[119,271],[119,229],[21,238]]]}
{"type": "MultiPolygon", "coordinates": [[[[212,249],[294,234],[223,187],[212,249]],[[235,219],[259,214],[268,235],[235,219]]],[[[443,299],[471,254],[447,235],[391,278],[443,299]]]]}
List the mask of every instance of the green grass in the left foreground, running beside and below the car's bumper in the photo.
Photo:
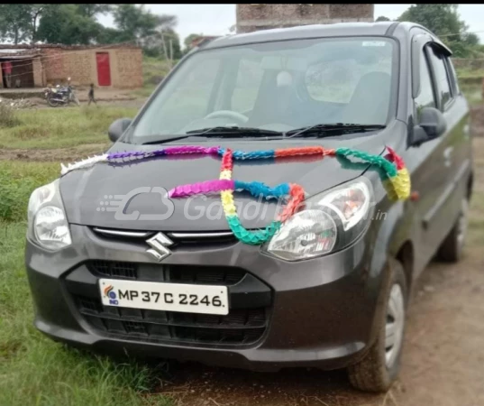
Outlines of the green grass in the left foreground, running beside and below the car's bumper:
{"type": "Polygon", "coordinates": [[[169,406],[151,392],[157,370],[118,363],[56,344],[32,326],[23,265],[26,205],[32,189],[54,180],[57,163],[0,161],[0,405],[169,406]]]}

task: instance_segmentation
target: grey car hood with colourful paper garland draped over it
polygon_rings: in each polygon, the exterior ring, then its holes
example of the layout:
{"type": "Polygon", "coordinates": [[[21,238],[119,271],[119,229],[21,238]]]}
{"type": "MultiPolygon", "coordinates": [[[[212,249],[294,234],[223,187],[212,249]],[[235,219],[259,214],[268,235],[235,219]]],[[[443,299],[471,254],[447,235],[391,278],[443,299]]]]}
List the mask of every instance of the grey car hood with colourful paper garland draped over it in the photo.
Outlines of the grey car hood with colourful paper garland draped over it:
{"type": "MultiPolygon", "coordinates": [[[[196,145],[220,145],[233,150],[295,148],[322,145],[325,148],[352,147],[380,154],[384,151],[384,134],[352,134],[320,140],[234,141],[204,140],[196,145]]],[[[199,140],[198,140],[199,141],[199,140]]],[[[110,152],[151,151],[177,143],[133,145],[115,143],[110,152]]],[[[228,230],[220,197],[167,198],[165,190],[178,185],[216,180],[221,159],[214,156],[171,156],[123,163],[97,163],[70,171],[60,180],[60,192],[68,222],[85,226],[116,229],[162,231],[228,230]]],[[[274,187],[294,182],[306,191],[306,198],[352,180],[367,167],[343,168],[332,157],[297,157],[276,161],[235,161],[233,179],[260,181],[274,187]]],[[[235,193],[242,224],[247,228],[266,226],[279,210],[275,203],[235,193]]]]}

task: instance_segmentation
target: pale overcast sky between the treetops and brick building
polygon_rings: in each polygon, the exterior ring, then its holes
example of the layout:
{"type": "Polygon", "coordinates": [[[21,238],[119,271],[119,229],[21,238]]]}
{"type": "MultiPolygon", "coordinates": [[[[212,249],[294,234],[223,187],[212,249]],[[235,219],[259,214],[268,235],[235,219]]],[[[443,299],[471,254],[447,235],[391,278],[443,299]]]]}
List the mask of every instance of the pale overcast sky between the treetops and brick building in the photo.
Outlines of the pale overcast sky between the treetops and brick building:
{"type": "MultiPolygon", "coordinates": [[[[397,19],[410,5],[375,5],[375,19],[385,15],[397,19]]],[[[224,35],[230,33],[235,24],[235,5],[145,5],[154,14],[174,14],[178,17],[175,30],[181,43],[190,33],[224,35]]],[[[470,32],[479,32],[484,43],[484,5],[459,5],[461,19],[470,27],[470,32]]],[[[111,16],[99,17],[99,23],[114,26],[111,16]]]]}

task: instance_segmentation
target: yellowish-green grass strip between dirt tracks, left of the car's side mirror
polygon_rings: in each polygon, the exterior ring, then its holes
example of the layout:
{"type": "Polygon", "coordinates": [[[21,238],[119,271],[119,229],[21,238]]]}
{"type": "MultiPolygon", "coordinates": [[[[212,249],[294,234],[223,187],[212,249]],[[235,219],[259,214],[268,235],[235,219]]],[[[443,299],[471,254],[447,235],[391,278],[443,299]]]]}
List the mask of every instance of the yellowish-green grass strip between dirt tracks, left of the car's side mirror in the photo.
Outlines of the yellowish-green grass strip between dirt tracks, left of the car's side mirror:
{"type": "Polygon", "coordinates": [[[67,148],[105,143],[107,129],[120,117],[133,117],[136,108],[83,106],[15,112],[18,120],[0,126],[0,148],[67,148]]]}

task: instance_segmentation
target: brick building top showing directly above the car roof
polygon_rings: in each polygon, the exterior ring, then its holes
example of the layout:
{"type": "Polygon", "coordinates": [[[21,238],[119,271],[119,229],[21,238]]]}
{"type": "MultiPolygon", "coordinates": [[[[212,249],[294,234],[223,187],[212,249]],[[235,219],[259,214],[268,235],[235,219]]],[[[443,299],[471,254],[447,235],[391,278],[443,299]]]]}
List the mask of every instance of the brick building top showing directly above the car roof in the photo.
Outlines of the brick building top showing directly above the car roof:
{"type": "Polygon", "coordinates": [[[237,5],[237,33],[330,23],[372,23],[373,5],[237,5]]]}

